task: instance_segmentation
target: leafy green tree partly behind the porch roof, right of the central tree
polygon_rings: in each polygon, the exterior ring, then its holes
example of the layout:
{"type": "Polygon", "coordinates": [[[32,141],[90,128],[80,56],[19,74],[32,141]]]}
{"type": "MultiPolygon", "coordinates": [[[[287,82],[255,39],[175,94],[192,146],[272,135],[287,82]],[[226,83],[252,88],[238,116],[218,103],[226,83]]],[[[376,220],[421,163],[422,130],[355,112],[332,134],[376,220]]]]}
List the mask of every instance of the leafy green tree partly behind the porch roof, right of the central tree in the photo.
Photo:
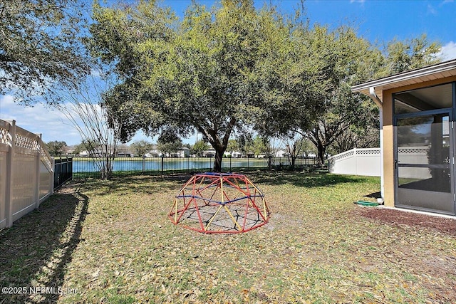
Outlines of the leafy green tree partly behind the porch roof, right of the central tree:
{"type": "MultiPolygon", "coordinates": [[[[318,33],[318,27],[314,31],[318,33]]],[[[343,152],[378,142],[378,132],[373,132],[378,130],[378,108],[366,96],[351,93],[351,85],[436,63],[439,46],[420,36],[410,41],[391,41],[382,53],[346,26],[321,37],[316,36],[322,43],[320,48],[333,58],[331,94],[321,100],[324,109],[314,124],[299,130],[314,143],[323,164],[328,147],[343,152]]]]}

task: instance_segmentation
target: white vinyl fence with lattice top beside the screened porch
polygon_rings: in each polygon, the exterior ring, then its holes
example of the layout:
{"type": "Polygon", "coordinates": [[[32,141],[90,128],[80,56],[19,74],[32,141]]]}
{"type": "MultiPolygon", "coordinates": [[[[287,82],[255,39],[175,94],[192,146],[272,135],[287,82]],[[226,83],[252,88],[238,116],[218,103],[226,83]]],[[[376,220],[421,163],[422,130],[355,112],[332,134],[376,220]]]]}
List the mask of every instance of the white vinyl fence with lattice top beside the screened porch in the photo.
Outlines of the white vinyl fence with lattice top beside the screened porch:
{"type": "Polygon", "coordinates": [[[328,157],[329,172],[380,177],[380,148],[352,149],[328,157]]]}

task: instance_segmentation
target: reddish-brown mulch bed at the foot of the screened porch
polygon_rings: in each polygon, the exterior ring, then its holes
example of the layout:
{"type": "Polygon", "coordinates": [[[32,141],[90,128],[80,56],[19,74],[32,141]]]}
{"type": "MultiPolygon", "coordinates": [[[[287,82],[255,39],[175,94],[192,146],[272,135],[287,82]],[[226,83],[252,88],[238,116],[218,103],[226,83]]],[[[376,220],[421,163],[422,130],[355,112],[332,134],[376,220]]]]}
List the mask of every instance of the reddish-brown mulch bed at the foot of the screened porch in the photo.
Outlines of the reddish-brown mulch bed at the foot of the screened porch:
{"type": "Polygon", "coordinates": [[[408,226],[422,226],[435,229],[443,234],[456,236],[456,219],[382,207],[360,206],[355,209],[355,213],[369,219],[382,221],[395,226],[404,224],[408,226]]]}

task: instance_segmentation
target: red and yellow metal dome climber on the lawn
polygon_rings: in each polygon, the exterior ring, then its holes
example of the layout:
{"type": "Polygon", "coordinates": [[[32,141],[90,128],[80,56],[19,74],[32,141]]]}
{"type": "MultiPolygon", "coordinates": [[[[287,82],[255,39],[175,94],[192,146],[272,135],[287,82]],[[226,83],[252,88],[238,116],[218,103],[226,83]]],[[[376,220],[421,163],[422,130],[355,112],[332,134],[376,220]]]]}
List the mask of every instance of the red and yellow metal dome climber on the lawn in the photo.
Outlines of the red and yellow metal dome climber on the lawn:
{"type": "Polygon", "coordinates": [[[168,216],[174,224],[204,234],[239,234],[269,220],[263,193],[244,174],[193,175],[175,196],[168,216]]]}

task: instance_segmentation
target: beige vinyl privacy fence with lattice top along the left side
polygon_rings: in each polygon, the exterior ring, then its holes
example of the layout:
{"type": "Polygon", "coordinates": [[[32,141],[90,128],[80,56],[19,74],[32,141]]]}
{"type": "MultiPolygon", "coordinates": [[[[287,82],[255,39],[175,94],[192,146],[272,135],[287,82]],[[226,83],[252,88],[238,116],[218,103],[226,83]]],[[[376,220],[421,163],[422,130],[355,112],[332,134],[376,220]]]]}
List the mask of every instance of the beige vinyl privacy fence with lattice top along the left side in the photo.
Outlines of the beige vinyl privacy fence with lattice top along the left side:
{"type": "Polygon", "coordinates": [[[0,229],[53,194],[53,167],[40,135],[0,120],[0,229]]]}

